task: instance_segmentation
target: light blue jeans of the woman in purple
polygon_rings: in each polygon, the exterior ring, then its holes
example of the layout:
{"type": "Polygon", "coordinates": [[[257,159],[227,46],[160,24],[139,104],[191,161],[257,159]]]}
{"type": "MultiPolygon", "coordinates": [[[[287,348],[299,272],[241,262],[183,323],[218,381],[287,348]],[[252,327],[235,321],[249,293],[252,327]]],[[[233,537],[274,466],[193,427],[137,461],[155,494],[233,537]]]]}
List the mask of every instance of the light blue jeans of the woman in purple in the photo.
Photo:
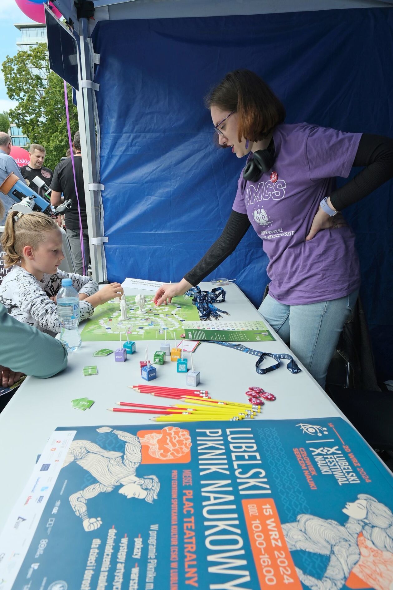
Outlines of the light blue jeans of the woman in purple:
{"type": "Polygon", "coordinates": [[[268,294],[258,311],[315,381],[325,388],[329,364],[358,293],[356,289],[340,299],[306,305],[284,305],[268,294]]]}

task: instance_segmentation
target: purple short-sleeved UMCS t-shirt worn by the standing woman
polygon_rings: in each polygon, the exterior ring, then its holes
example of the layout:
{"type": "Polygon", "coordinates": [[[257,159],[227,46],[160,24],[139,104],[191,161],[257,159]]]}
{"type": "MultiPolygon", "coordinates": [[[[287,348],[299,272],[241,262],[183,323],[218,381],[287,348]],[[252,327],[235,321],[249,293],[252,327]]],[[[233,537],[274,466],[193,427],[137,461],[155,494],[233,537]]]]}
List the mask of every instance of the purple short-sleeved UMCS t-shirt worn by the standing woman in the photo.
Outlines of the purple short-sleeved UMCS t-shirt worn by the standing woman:
{"type": "Polygon", "coordinates": [[[247,214],[269,257],[269,294],[287,305],[344,297],[360,285],[355,235],[349,227],[321,230],[310,241],[319,203],[336,176],[347,178],[361,133],[342,133],[308,123],[273,131],[273,171],[256,182],[240,175],[233,210],[247,214]]]}

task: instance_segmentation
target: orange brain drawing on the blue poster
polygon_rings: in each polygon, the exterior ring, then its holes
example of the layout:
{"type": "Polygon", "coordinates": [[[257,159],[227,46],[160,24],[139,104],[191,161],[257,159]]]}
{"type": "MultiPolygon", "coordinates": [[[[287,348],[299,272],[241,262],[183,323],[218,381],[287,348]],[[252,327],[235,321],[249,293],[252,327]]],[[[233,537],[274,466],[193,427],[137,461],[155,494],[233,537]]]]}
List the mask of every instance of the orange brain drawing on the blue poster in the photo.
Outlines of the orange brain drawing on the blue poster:
{"type": "Polygon", "coordinates": [[[166,426],[158,432],[150,432],[140,439],[149,447],[148,454],[161,460],[176,459],[185,455],[191,448],[189,432],[177,426],[166,426]]]}

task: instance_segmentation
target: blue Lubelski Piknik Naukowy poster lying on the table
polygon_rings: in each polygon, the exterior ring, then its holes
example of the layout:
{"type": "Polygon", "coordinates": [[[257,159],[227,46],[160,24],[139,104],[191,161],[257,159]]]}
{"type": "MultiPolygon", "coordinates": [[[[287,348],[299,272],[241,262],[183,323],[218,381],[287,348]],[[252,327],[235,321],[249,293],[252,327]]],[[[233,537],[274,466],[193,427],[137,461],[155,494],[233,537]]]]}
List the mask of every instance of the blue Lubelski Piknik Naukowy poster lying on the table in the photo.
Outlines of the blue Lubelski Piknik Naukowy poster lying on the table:
{"type": "Polygon", "coordinates": [[[393,587],[391,474],[341,418],[54,432],[1,590],[393,587]]]}

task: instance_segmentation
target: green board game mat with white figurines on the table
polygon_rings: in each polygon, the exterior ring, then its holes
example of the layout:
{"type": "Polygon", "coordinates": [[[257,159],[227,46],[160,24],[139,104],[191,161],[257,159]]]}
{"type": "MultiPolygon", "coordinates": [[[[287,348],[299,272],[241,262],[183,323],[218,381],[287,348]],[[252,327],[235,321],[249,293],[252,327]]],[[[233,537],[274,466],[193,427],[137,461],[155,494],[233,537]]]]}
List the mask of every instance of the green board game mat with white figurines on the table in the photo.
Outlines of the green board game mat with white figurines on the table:
{"type": "Polygon", "coordinates": [[[183,337],[184,322],[199,320],[199,313],[191,303],[191,297],[176,297],[173,303],[156,307],[153,295],[147,295],[146,313],[140,314],[134,296],[126,296],[127,320],[120,319],[120,303],[108,301],[94,310],[94,315],[86,320],[81,332],[82,340],[94,342],[128,340],[167,340],[183,337]]]}

